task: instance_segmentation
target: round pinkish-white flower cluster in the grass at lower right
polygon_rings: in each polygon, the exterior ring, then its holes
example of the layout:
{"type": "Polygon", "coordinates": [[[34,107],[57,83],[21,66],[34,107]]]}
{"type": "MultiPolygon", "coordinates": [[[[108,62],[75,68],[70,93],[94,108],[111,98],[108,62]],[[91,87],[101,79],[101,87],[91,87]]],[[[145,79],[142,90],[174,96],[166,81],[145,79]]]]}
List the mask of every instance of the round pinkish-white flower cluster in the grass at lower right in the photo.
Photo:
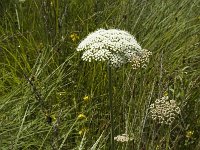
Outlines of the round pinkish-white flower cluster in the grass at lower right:
{"type": "Polygon", "coordinates": [[[157,120],[161,124],[171,125],[176,115],[180,114],[180,108],[175,100],[169,100],[168,96],[163,96],[161,99],[150,105],[150,115],[153,120],[157,120]]]}

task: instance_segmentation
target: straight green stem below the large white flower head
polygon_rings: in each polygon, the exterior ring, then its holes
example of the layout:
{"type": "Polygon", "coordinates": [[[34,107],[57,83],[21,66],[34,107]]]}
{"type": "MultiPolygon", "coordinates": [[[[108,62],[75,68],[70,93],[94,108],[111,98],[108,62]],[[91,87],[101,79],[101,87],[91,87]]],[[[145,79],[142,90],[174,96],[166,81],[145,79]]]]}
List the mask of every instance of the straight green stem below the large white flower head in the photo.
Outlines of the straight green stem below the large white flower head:
{"type": "Polygon", "coordinates": [[[111,150],[114,150],[114,123],[113,123],[113,106],[112,106],[112,73],[111,73],[111,67],[108,65],[108,90],[109,90],[109,100],[110,100],[110,121],[111,121],[111,134],[110,134],[110,140],[111,140],[111,150]]]}

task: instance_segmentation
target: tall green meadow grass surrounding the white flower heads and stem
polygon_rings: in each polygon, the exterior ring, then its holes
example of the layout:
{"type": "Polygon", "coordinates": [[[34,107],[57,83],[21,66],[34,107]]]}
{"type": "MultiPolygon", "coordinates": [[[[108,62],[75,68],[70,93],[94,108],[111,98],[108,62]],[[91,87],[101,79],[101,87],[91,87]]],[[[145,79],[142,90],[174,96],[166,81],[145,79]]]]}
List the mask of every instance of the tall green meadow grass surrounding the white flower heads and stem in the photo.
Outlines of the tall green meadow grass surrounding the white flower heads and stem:
{"type": "Polygon", "coordinates": [[[199,150],[199,10],[199,0],[1,0],[0,149],[109,149],[106,67],[76,47],[118,28],[152,56],[146,69],[113,69],[114,134],[134,135],[116,149],[199,150]],[[181,108],[169,131],[148,117],[164,93],[181,108]]]}

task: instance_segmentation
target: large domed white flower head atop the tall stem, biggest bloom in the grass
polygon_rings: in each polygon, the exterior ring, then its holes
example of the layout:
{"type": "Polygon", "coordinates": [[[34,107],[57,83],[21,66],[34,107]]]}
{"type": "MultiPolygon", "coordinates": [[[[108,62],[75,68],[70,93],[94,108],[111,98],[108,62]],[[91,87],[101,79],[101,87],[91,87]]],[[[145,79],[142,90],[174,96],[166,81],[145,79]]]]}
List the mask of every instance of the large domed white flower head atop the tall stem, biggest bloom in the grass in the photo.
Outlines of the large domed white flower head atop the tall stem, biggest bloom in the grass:
{"type": "MultiPolygon", "coordinates": [[[[89,34],[77,47],[83,51],[84,61],[107,61],[110,66],[120,67],[127,62],[134,64],[147,61],[144,51],[130,33],[118,29],[99,29],[89,34]],[[141,58],[141,59],[140,59],[141,58]]],[[[148,57],[147,57],[148,58],[148,57]]]]}

